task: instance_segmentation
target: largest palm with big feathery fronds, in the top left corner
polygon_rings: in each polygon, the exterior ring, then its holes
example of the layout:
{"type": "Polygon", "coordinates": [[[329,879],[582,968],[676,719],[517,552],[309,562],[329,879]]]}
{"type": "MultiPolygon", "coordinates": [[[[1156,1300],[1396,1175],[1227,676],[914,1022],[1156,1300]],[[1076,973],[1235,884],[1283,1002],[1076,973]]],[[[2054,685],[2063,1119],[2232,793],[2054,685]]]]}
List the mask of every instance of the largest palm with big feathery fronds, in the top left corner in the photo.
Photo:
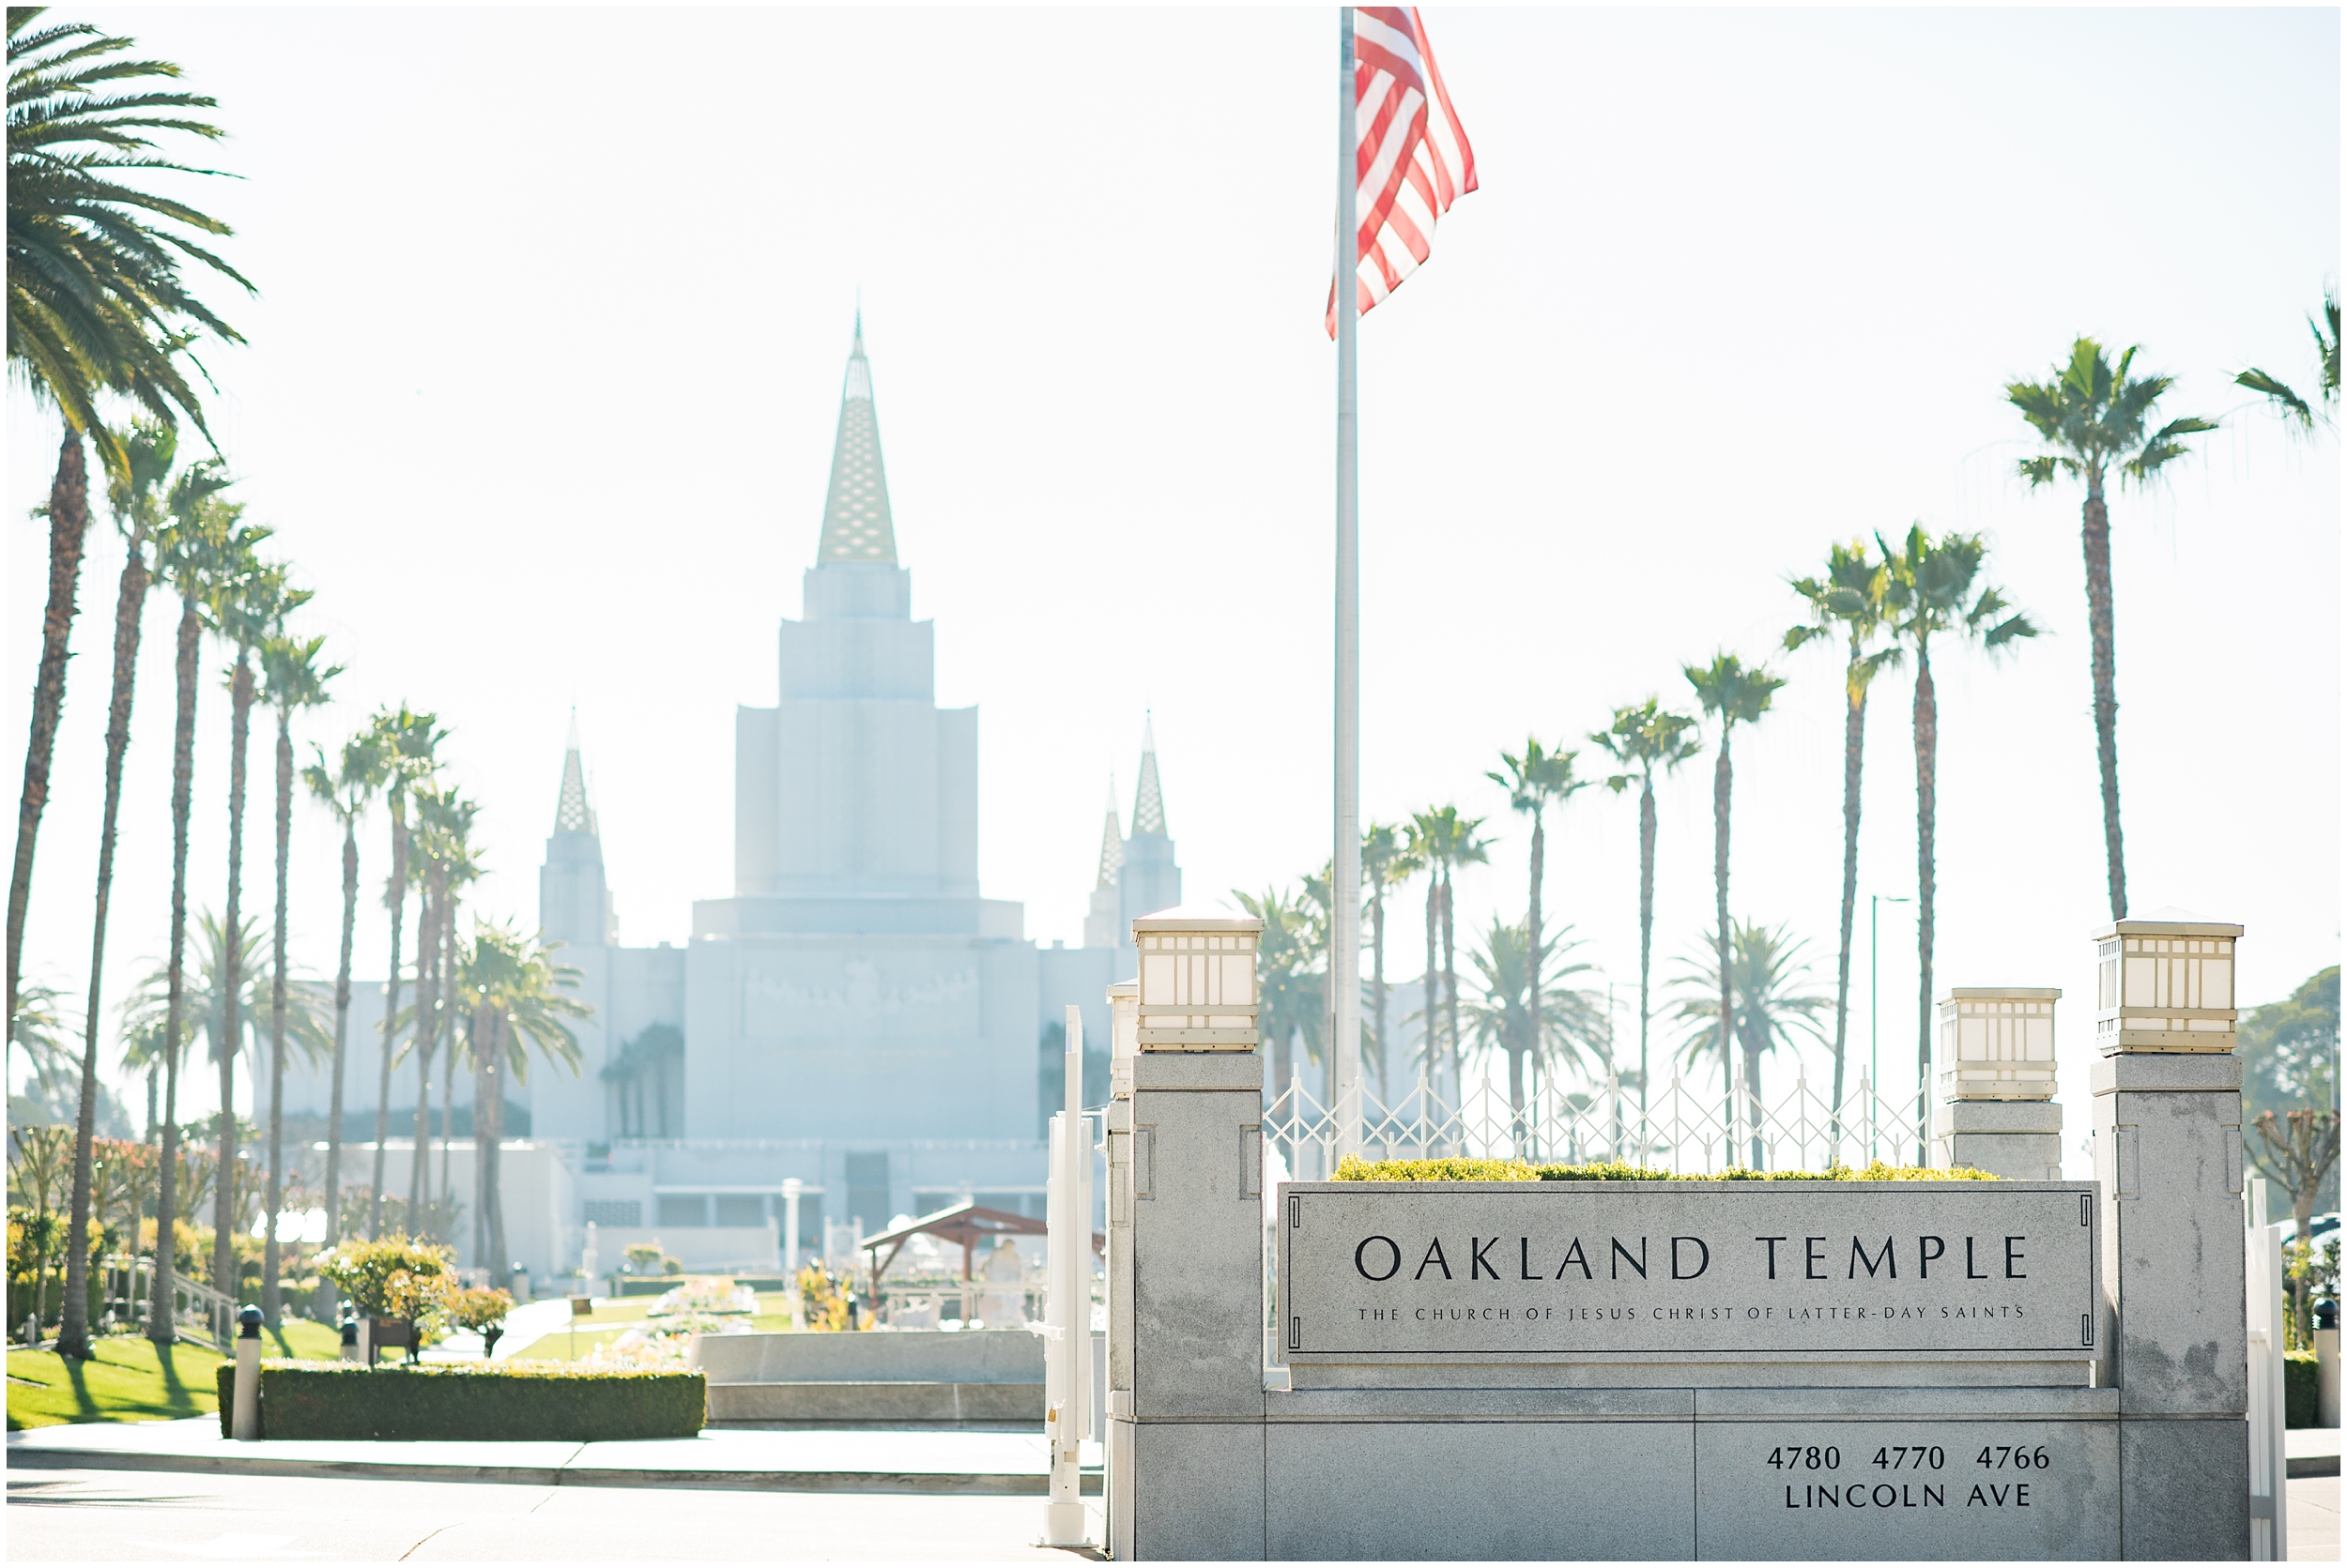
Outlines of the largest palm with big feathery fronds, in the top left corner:
{"type": "Polygon", "coordinates": [[[204,408],[176,359],[204,333],[223,343],[244,338],[188,293],[178,268],[192,261],[251,291],[197,239],[228,235],[225,223],[138,188],[150,174],[216,174],[153,155],[157,131],[218,138],[216,124],[190,117],[216,101],[157,87],[178,77],[169,61],[115,59],[134,47],[129,38],[87,21],[35,28],[45,9],[12,5],[7,14],[7,366],[66,427],[49,486],[49,608],[7,894],[12,1016],[89,533],[82,437],[96,444],[106,472],[127,481],[124,444],[99,420],[101,390],[129,397],[164,425],[185,413],[204,430],[204,408]]]}

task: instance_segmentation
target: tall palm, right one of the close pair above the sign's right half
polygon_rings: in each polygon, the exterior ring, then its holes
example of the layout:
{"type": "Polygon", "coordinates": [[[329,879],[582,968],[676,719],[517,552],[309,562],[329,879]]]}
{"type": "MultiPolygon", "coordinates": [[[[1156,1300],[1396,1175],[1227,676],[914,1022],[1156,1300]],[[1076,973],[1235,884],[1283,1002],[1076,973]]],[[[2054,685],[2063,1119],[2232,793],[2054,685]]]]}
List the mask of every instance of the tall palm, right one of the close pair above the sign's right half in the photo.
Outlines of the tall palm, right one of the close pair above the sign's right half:
{"type": "MultiPolygon", "coordinates": [[[[1906,547],[1894,552],[1882,540],[1889,566],[1885,620],[1892,634],[1915,650],[1915,1124],[1932,1113],[1932,901],[1934,833],[1939,831],[1939,690],[1932,685],[1932,638],[1981,643],[1990,653],[2037,636],[2028,615],[2009,613],[1995,587],[1981,582],[1988,542],[1976,533],[1943,533],[1936,540],[1922,523],[1908,528],[1906,547]]],[[[1920,1134],[1917,1134],[1920,1138],[1920,1134]]],[[[1915,1164],[1927,1150],[1917,1143],[1915,1164]]]]}

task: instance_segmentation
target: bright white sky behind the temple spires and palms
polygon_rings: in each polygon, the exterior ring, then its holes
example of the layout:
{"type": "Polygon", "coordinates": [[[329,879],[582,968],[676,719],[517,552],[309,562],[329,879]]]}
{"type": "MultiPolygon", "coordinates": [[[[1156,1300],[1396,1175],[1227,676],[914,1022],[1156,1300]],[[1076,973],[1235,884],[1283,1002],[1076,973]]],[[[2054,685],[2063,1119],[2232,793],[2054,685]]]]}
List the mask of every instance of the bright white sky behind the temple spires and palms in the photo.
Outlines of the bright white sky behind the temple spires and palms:
{"type": "MultiPolygon", "coordinates": [[[[66,12],[84,14],[84,12],[66,12]]],[[[305,721],[437,709],[483,803],[481,906],[535,915],[580,709],[627,941],[732,878],[732,707],[775,699],[861,289],[901,559],[939,697],[981,704],[981,876],[1080,939],[1115,768],[1155,709],[1192,901],[1328,854],[1335,19],[1312,12],[96,9],[185,66],[242,181],[251,347],[214,427],[350,667],[305,721]]],[[[1767,655],[1784,577],[1864,530],[1979,528],[2047,636],[1941,683],[1939,981],[2068,991],[2086,1124],[2105,918],[2077,495],[2025,493],[2011,376],[2143,343],[2220,434],[2115,500],[2138,911],[2248,925],[2241,993],[2338,958],[2338,444],[2227,383],[2312,380],[2338,277],[2338,14],[1472,12],[1429,28],[1483,190],[1361,331],[1364,791],[1490,812],[1462,918],[1523,904],[1483,782],[1528,730],[1687,707],[1767,655]]],[[[38,655],[54,423],[9,392],[7,709],[38,655]]],[[[82,986],[120,545],[84,570],[26,944],[82,986]]],[[[169,627],[153,601],[108,993],[164,948],[169,627]]],[[[207,657],[192,901],[225,885],[207,657]]],[[[1737,744],[1734,906],[1831,988],[1831,653],[1737,744]]],[[[1913,892],[1910,685],[1878,688],[1861,887],[1913,892]]],[[[268,904],[256,744],[246,904],[268,904]]],[[[338,866],[298,817],[296,958],[338,866]]],[[[364,840],[385,871],[380,822],[364,840]]],[[[1551,826],[1551,920],[1636,986],[1636,812],[1551,826]]],[[[1415,894],[1406,894],[1415,897],[1415,894]]],[[[1711,908],[1709,758],[1662,800],[1657,974],[1711,908]]],[[[1404,911],[1394,974],[1413,974],[1404,911]]],[[[1864,908],[1861,908],[1864,932],[1864,908]]],[[[361,976],[380,974],[380,904],[361,976]]],[[[1465,962],[1465,960],[1462,960],[1465,962]]],[[[1866,1040],[1859,951],[1854,1040],[1866,1040]]],[[[1882,1054],[1913,1061],[1882,920],[1882,1054]]],[[[1624,1014],[1624,1030],[1631,1028],[1624,1014]]],[[[199,1113],[204,1073],[188,1075],[199,1113]]],[[[2077,1167],[2077,1160],[2072,1160],[2077,1167]]]]}

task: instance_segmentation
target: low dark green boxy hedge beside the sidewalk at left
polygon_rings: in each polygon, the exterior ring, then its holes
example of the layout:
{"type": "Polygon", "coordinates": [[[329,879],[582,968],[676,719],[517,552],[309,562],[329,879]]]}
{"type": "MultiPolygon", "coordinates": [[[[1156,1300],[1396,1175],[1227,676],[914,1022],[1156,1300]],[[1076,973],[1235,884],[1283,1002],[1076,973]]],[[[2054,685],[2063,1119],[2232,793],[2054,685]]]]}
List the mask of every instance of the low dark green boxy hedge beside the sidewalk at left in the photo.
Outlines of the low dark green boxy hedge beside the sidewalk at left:
{"type": "MultiPolygon", "coordinates": [[[[221,1437],[237,1366],[223,1361],[221,1437]]],[[[573,1441],[692,1437],[709,1418],[704,1373],[519,1368],[483,1361],[378,1366],[263,1361],[261,1434],[272,1439],[573,1441]]]]}

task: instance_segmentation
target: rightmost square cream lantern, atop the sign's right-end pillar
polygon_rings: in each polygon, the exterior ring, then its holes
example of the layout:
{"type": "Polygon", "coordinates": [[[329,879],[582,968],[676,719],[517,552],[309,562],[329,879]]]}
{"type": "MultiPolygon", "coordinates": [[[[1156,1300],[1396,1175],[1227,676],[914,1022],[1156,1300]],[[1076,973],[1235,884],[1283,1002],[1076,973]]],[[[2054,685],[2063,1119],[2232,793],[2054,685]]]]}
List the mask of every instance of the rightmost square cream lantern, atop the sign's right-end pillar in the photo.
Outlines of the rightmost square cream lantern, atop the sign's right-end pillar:
{"type": "Polygon", "coordinates": [[[2230,1052],[2239,1042],[2232,960],[2239,925],[2112,920],[2094,934],[2094,1045],[2133,1052],[2230,1052]]]}

